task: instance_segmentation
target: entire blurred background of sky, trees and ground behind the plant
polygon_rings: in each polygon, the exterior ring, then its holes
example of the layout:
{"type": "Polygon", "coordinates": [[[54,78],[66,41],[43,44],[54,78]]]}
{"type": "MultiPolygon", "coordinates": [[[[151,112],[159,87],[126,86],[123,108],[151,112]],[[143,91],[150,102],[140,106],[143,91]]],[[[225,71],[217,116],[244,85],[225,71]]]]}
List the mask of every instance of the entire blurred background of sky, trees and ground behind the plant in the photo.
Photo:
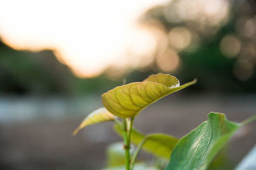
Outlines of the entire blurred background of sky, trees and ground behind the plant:
{"type": "MultiPolygon", "coordinates": [[[[253,0],[0,0],[0,169],[104,167],[122,140],[111,122],[72,131],[102,93],[152,73],[198,82],[142,111],[142,132],[181,138],[210,111],[241,122],[256,113],[255,66],[253,0]]],[[[223,169],[255,131],[237,132],[223,169]]]]}

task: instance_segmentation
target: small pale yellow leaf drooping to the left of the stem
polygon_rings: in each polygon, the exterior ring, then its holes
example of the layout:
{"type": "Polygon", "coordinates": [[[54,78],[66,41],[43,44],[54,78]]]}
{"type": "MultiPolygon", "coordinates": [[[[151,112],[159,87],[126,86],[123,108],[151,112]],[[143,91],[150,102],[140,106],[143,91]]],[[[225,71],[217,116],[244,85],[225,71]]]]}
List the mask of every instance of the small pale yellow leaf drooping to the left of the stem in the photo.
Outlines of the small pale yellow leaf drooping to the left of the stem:
{"type": "Polygon", "coordinates": [[[86,118],[84,118],[83,122],[73,132],[73,135],[76,135],[78,131],[80,131],[81,129],[88,125],[106,122],[114,119],[115,115],[111,114],[108,110],[106,110],[106,108],[99,108],[90,113],[86,118]]]}

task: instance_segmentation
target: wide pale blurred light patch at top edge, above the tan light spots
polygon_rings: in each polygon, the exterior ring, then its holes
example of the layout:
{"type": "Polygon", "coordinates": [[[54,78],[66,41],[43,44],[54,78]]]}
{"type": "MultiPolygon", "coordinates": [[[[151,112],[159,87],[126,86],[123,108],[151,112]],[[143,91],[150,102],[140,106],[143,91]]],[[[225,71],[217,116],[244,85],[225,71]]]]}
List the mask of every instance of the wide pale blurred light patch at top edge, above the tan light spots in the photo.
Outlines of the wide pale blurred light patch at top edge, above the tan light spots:
{"type": "Polygon", "coordinates": [[[229,11],[227,0],[180,0],[170,3],[164,17],[174,23],[194,20],[200,25],[217,25],[227,20],[229,11]]]}

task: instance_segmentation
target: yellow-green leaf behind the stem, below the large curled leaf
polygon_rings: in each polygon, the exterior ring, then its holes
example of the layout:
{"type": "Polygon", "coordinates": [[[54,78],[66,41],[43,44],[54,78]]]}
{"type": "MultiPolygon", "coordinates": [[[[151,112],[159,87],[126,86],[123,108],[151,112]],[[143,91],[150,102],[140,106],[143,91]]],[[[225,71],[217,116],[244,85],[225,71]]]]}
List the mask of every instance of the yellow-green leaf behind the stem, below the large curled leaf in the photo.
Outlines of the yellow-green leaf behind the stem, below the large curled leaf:
{"type": "MultiPolygon", "coordinates": [[[[115,124],[114,128],[116,132],[122,136],[122,127],[120,127],[118,124],[115,124]]],[[[174,146],[179,141],[179,139],[168,136],[166,134],[148,134],[145,136],[136,129],[132,128],[132,143],[139,145],[144,138],[147,138],[147,141],[145,141],[142,149],[164,159],[170,158],[174,146]]]]}

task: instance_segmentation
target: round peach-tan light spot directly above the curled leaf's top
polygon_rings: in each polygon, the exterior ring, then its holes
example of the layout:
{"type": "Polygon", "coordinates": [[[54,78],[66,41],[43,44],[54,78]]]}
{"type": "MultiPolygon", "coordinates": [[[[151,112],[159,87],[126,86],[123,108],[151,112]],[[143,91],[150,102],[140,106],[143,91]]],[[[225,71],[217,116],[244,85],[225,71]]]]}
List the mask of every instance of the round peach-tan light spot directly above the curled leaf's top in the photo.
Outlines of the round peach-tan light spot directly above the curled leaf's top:
{"type": "Polygon", "coordinates": [[[179,55],[173,50],[167,50],[157,55],[156,64],[165,72],[174,71],[179,66],[179,55]]]}

